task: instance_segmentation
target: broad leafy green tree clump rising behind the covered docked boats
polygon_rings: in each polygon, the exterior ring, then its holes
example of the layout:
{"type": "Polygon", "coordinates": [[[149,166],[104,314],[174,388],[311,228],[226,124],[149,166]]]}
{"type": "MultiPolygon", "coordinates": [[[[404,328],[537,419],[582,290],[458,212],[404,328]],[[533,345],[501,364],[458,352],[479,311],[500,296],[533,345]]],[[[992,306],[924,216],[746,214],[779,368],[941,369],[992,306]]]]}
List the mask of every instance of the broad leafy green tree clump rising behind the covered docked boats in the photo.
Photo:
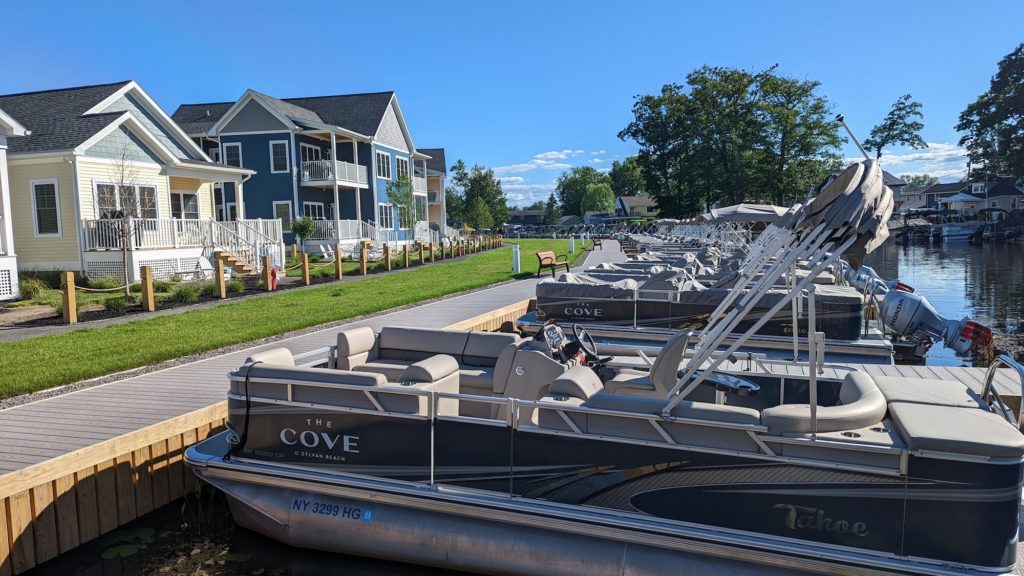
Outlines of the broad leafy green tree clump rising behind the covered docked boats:
{"type": "Polygon", "coordinates": [[[775,67],[702,67],[685,84],[637,96],[634,120],[618,137],[640,146],[637,163],[663,215],[738,202],[790,204],[840,158],[843,139],[818,88],[775,67]]]}

